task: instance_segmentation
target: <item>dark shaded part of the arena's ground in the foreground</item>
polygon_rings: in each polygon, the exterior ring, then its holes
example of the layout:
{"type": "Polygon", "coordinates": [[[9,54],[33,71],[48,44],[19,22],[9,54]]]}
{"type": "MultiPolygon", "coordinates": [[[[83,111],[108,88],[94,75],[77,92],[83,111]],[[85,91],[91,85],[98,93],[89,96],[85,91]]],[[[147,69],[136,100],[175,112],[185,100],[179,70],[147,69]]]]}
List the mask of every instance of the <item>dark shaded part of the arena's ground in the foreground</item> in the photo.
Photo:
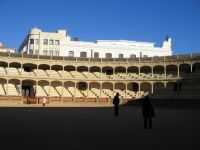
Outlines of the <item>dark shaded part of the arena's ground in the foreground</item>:
{"type": "Polygon", "coordinates": [[[200,150],[200,109],[155,108],[143,129],[141,108],[0,108],[0,149],[200,150]]]}

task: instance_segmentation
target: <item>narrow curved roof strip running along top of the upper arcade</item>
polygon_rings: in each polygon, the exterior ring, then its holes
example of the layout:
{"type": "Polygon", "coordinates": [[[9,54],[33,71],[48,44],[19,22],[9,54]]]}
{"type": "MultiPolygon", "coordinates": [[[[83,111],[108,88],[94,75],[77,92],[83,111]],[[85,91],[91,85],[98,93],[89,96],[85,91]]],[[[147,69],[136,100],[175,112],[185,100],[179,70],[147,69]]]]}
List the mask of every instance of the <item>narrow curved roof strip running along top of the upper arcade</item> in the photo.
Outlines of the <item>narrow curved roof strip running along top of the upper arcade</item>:
{"type": "Polygon", "coordinates": [[[82,58],[82,57],[62,57],[62,56],[45,56],[31,55],[25,53],[7,53],[0,52],[0,57],[9,58],[30,58],[30,59],[48,59],[48,60],[67,60],[67,61],[91,61],[91,62],[154,62],[154,61],[179,61],[200,59],[200,53],[172,55],[172,56],[156,56],[143,58],[82,58]]]}

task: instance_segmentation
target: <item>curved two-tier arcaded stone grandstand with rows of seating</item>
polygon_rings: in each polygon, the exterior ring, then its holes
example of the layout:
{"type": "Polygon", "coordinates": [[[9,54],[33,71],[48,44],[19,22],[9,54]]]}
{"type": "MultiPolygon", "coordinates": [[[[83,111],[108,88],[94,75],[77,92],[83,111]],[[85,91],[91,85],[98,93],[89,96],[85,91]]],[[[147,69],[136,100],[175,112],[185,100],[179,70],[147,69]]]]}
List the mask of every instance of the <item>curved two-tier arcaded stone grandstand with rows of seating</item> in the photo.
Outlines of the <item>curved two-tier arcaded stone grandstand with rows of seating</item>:
{"type": "Polygon", "coordinates": [[[50,103],[111,103],[116,92],[122,103],[146,94],[161,101],[197,102],[199,85],[199,53],[126,59],[0,53],[1,102],[45,96],[50,103]]]}

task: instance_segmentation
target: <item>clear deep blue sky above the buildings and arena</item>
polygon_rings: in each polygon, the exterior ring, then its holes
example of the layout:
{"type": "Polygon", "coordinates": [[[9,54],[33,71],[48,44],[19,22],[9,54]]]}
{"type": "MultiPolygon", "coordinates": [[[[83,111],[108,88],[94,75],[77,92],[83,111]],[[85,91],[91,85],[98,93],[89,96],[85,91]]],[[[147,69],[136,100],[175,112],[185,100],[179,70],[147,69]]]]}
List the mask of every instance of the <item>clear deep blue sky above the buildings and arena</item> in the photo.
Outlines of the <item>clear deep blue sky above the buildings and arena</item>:
{"type": "Polygon", "coordinates": [[[160,46],[172,38],[174,54],[200,52],[200,0],[0,0],[0,41],[19,48],[31,28],[82,41],[135,40],[160,46]]]}

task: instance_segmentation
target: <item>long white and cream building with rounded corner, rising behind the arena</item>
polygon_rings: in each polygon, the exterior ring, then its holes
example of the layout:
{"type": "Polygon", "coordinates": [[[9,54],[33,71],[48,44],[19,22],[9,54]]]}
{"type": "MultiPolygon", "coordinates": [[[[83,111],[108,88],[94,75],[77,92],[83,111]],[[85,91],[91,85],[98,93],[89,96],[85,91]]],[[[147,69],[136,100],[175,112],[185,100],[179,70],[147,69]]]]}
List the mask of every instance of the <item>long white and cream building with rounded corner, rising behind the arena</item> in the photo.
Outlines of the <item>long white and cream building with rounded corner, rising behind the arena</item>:
{"type": "Polygon", "coordinates": [[[19,48],[19,52],[39,55],[92,57],[92,58],[135,58],[172,55],[171,38],[166,38],[161,47],[155,43],[127,40],[97,40],[84,42],[71,40],[66,30],[55,33],[31,29],[19,48]]]}

